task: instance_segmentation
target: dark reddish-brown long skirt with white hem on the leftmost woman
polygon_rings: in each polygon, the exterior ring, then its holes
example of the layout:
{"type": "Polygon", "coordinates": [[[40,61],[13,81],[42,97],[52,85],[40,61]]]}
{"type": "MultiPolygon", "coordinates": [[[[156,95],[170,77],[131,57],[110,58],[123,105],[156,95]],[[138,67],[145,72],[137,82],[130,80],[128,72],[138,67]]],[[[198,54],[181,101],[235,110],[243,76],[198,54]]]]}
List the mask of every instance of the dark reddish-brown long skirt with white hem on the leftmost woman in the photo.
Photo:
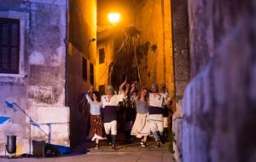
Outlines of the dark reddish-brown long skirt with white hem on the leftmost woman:
{"type": "Polygon", "coordinates": [[[90,115],[90,133],[91,141],[96,138],[99,140],[105,139],[105,132],[103,130],[102,115],[90,115]]]}

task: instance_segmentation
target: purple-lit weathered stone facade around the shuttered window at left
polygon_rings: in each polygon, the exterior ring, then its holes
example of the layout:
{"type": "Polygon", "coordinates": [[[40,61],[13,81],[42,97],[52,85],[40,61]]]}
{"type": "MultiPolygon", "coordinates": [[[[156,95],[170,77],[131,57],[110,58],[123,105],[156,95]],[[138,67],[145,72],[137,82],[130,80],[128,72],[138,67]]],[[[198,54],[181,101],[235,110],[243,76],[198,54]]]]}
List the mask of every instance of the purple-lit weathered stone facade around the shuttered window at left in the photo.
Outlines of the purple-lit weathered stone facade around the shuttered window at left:
{"type": "Polygon", "coordinates": [[[69,109],[65,107],[66,13],[66,0],[0,1],[1,17],[20,20],[20,72],[0,74],[0,114],[12,118],[0,125],[0,154],[4,153],[9,130],[18,136],[17,154],[32,151],[29,140],[69,146],[69,109]],[[30,125],[31,122],[36,124],[30,125]]]}

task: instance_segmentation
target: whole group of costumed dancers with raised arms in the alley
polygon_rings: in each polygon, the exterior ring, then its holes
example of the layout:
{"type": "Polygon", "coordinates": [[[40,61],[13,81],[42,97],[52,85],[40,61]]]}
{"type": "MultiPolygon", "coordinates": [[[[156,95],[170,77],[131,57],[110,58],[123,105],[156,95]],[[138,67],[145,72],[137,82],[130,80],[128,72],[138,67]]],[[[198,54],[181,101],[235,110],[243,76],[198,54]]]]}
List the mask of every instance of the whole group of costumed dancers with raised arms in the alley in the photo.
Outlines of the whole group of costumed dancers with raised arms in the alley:
{"type": "Polygon", "coordinates": [[[160,93],[158,84],[152,84],[151,90],[142,87],[137,94],[137,83],[119,86],[118,95],[113,86],[108,85],[107,94],[100,95],[96,90],[84,93],[90,104],[90,133],[92,141],[99,148],[99,141],[108,139],[110,146],[116,149],[118,123],[125,130],[125,142],[131,142],[131,136],[141,139],[141,146],[147,147],[147,138],[154,136],[155,147],[163,144],[168,128],[168,112],[171,97],[163,86],[160,93]],[[165,116],[165,117],[164,117],[165,116]]]}

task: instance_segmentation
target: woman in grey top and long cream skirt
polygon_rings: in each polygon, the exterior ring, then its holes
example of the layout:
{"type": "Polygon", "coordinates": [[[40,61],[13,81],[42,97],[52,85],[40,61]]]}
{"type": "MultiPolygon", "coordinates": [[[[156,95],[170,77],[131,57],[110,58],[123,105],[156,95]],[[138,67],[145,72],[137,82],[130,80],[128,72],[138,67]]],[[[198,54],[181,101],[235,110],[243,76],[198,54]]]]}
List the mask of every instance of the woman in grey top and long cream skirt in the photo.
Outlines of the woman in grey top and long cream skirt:
{"type": "Polygon", "coordinates": [[[131,135],[141,138],[142,147],[146,147],[147,137],[150,135],[150,127],[148,119],[148,90],[142,88],[139,98],[135,101],[137,115],[133,124],[131,135]]]}

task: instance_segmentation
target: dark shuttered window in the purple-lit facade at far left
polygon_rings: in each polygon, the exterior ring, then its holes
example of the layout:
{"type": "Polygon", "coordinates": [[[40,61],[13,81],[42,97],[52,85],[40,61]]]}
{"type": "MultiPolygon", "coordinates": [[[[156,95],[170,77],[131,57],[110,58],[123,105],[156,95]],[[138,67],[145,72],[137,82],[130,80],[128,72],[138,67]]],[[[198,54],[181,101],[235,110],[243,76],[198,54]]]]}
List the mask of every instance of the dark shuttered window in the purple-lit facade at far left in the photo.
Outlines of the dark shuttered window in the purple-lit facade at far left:
{"type": "Polygon", "coordinates": [[[0,73],[19,73],[20,20],[0,18],[0,73]]]}

